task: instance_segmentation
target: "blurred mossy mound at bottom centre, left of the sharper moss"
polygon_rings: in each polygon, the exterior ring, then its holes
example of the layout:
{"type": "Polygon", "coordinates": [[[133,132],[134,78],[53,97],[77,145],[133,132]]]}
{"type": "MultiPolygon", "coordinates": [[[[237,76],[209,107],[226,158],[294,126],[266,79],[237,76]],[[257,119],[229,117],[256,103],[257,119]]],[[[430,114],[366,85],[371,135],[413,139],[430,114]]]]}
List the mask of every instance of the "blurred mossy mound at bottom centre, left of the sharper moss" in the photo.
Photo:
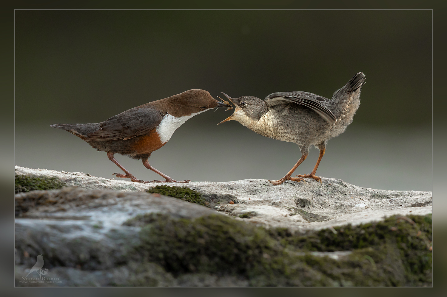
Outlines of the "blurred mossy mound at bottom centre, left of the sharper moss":
{"type": "Polygon", "coordinates": [[[265,228],[224,215],[173,220],[158,214],[142,228],[140,239],[138,252],[143,258],[176,276],[190,272],[241,275],[256,286],[333,284],[284,252],[265,228]],[[291,281],[290,273],[300,277],[291,281]]]}

